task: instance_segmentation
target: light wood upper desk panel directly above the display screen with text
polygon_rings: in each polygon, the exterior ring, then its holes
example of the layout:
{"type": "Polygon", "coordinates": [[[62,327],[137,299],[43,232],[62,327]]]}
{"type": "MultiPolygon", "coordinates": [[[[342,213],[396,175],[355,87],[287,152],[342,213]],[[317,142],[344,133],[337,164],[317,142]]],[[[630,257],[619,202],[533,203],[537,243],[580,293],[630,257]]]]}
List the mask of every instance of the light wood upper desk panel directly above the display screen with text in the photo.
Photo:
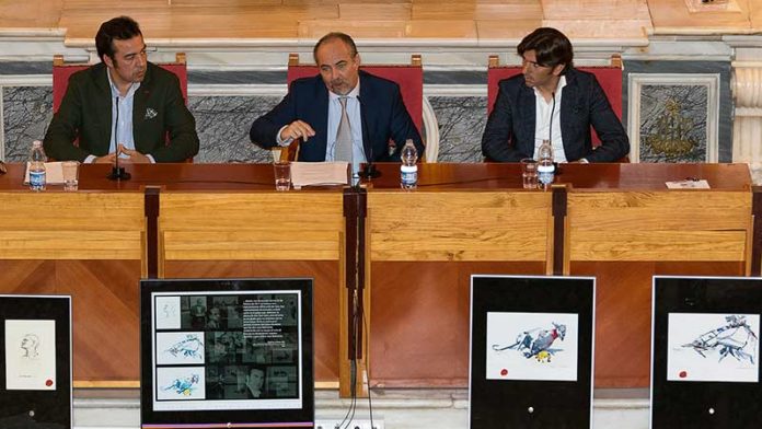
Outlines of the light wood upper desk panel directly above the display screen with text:
{"type": "Polygon", "coordinates": [[[342,195],[164,194],[165,259],[337,260],[342,195]]]}

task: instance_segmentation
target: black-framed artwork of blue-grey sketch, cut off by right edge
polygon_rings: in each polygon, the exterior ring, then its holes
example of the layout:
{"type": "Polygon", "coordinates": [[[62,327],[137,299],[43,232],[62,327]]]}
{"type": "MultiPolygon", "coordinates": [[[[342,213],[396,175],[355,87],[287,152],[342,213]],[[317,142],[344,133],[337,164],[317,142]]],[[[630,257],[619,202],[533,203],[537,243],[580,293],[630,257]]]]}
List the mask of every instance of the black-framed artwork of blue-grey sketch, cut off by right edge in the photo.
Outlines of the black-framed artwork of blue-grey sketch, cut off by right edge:
{"type": "Polygon", "coordinates": [[[656,276],[650,427],[751,428],[762,421],[762,279],[656,276]]]}

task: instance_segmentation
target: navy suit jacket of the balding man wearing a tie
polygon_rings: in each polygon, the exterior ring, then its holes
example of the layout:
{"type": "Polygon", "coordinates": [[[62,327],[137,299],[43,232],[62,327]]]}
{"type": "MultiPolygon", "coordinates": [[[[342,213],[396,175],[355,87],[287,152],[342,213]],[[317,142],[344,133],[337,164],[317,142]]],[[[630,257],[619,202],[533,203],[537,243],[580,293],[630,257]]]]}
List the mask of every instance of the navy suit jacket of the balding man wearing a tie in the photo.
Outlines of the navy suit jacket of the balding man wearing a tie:
{"type": "MultiPolygon", "coordinates": [[[[400,94],[400,86],[389,80],[360,71],[360,116],[362,143],[369,161],[400,161],[406,139],[413,139],[418,156],[424,154],[420,135],[411,119],[400,94]],[[389,140],[396,149],[389,153],[389,140]]],[[[325,161],[328,129],[328,90],[322,78],[298,79],[284,100],[269,113],[254,120],[250,137],[263,148],[277,146],[277,134],[285,125],[301,119],[315,130],[299,149],[299,161],[325,161]]]]}

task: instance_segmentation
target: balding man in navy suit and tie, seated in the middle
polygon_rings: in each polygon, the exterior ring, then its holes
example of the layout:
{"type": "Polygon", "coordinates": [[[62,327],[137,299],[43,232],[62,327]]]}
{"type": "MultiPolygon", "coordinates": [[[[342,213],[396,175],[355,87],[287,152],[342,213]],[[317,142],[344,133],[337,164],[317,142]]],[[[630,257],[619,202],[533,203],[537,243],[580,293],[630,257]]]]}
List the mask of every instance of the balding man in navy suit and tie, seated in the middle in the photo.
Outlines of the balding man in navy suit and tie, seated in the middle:
{"type": "Polygon", "coordinates": [[[328,33],[318,42],[313,55],[320,74],[293,81],[284,100],[254,120],[250,131],[253,142],[273,148],[302,139],[299,161],[358,164],[400,161],[402,147],[412,139],[423,155],[420,135],[399,85],[359,70],[360,55],[351,37],[328,33]],[[351,135],[347,151],[343,151],[339,138],[345,113],[351,135]]]}

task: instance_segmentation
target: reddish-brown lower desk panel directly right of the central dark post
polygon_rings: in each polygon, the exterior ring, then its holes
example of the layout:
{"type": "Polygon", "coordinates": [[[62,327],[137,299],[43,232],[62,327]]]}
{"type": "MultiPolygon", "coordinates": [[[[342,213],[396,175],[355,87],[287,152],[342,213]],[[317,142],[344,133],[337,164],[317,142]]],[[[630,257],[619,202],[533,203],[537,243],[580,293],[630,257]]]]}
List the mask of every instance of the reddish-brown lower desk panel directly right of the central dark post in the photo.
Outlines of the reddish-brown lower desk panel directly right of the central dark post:
{"type": "Polygon", "coordinates": [[[472,274],[541,275],[542,263],[373,263],[370,384],[464,387],[472,274]]]}

